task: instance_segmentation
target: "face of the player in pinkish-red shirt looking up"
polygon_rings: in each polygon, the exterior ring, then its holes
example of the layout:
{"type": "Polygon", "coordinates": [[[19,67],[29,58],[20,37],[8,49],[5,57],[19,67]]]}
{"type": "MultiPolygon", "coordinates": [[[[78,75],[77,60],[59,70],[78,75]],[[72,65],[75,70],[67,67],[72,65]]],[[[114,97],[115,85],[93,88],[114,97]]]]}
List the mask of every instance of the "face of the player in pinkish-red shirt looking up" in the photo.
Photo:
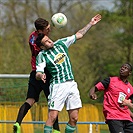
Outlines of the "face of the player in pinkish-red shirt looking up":
{"type": "Polygon", "coordinates": [[[130,74],[130,66],[128,64],[124,64],[120,68],[120,76],[127,77],[130,74]]]}

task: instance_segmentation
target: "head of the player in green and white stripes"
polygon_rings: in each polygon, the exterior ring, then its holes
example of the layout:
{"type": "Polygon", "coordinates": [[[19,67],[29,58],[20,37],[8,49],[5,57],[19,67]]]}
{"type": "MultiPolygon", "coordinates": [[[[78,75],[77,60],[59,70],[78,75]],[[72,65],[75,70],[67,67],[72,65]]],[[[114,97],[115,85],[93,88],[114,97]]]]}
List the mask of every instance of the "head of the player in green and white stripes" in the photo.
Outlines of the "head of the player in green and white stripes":
{"type": "Polygon", "coordinates": [[[43,33],[39,33],[36,39],[36,45],[43,50],[47,50],[52,48],[54,43],[48,36],[43,33]]]}

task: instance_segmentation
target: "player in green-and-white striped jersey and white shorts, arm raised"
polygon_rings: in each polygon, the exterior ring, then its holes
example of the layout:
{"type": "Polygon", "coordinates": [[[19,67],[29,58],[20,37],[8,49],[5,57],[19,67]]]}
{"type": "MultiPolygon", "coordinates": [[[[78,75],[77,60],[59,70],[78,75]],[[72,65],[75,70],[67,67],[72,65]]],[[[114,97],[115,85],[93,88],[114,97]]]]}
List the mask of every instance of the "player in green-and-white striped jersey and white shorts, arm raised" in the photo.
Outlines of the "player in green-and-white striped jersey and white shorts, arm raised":
{"type": "Polygon", "coordinates": [[[59,39],[53,42],[44,34],[38,35],[36,44],[43,49],[36,58],[36,78],[46,81],[44,68],[52,75],[50,81],[50,95],[48,100],[49,115],[44,127],[44,133],[52,133],[53,123],[66,105],[69,121],[65,133],[73,133],[76,130],[78,112],[82,107],[77,83],[74,81],[72,66],[68,55],[68,47],[83,35],[97,22],[101,20],[101,15],[97,14],[91,21],[75,35],[59,39]]]}

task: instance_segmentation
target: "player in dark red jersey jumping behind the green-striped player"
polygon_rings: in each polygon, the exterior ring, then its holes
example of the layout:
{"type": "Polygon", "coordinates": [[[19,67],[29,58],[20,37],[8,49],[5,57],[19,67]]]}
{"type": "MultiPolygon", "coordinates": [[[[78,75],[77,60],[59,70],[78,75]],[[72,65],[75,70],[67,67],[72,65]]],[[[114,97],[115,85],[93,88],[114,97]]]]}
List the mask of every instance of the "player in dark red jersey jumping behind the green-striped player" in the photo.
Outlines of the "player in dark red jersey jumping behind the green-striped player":
{"type": "MultiPolygon", "coordinates": [[[[30,45],[30,50],[31,50],[31,55],[32,55],[31,56],[32,71],[29,77],[27,98],[24,104],[19,109],[16,123],[13,126],[13,133],[21,132],[21,129],[20,129],[21,122],[23,118],[25,117],[25,115],[27,114],[28,110],[33,106],[33,104],[35,102],[38,102],[40,92],[43,90],[47,99],[49,95],[49,81],[50,81],[51,75],[48,73],[48,71],[45,70],[46,75],[47,75],[46,83],[44,83],[42,80],[38,81],[35,78],[36,56],[38,55],[40,51],[40,48],[37,47],[35,40],[39,33],[49,35],[50,24],[45,19],[38,18],[37,20],[35,20],[34,25],[35,25],[36,31],[33,31],[29,37],[29,45],[30,45]]],[[[53,128],[54,128],[54,133],[60,133],[59,125],[58,125],[58,118],[56,119],[53,125],[53,128]]]]}

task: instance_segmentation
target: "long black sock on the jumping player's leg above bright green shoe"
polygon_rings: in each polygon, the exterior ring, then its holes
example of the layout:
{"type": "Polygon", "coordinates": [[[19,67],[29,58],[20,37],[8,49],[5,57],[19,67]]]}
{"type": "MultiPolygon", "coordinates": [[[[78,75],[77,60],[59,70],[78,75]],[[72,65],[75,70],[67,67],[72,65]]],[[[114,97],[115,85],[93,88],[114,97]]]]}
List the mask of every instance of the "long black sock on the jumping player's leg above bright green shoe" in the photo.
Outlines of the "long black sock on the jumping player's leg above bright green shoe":
{"type": "Polygon", "coordinates": [[[25,115],[27,114],[28,110],[31,108],[30,104],[25,102],[19,109],[19,113],[17,116],[17,120],[16,122],[19,123],[19,125],[21,125],[21,122],[23,120],[23,118],[25,117],[25,115]]]}

